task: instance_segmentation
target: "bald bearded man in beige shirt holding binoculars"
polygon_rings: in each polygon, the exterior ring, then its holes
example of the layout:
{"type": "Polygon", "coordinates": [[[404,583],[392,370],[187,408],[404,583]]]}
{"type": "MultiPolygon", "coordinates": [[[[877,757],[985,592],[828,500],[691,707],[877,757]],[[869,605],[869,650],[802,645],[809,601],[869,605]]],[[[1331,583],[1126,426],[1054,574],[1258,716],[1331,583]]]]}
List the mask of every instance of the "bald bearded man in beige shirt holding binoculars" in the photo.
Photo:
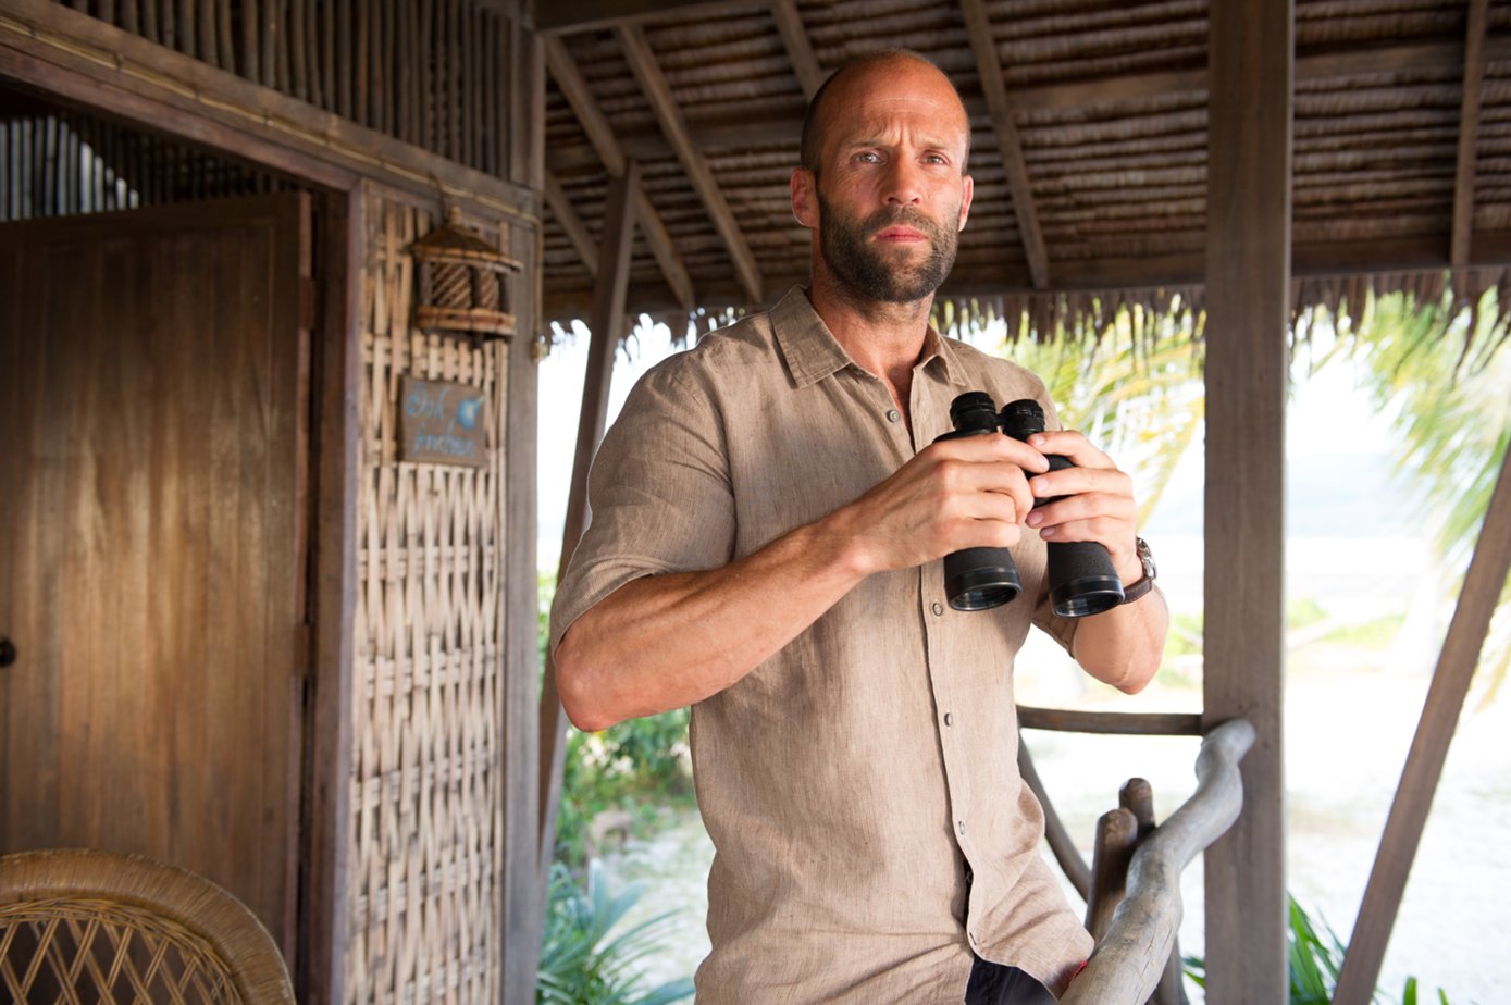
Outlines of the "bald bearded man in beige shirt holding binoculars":
{"type": "Polygon", "coordinates": [[[1132,694],[1168,615],[1127,475],[1032,373],[929,326],[969,148],[922,56],[839,70],[790,183],[810,284],[651,369],[594,461],[558,685],[585,730],[692,706],[701,1005],[1049,1002],[1091,951],[1038,854],[1014,657],[1037,626],[1132,694]],[[970,390],[1037,399],[1050,431],[935,443],[970,390]],[[1056,617],[1047,541],[1102,543],[1129,601],[1056,617]],[[967,547],[1011,549],[1023,595],[950,609],[940,558],[967,547]]]}

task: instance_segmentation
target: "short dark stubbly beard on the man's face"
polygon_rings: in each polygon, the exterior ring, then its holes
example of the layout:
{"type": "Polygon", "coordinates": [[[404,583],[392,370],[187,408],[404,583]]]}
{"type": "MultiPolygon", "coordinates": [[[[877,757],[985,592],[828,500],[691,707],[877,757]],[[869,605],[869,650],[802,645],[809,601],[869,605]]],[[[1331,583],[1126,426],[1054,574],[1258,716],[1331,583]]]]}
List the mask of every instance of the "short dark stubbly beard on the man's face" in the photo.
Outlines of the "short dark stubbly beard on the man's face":
{"type": "Polygon", "coordinates": [[[864,299],[885,304],[922,301],[944,283],[955,264],[959,234],[911,206],[888,206],[857,219],[830,206],[819,193],[819,251],[823,263],[840,286],[864,299]],[[923,261],[899,260],[901,249],[878,246],[869,240],[895,225],[911,227],[929,239],[929,254],[923,261]]]}

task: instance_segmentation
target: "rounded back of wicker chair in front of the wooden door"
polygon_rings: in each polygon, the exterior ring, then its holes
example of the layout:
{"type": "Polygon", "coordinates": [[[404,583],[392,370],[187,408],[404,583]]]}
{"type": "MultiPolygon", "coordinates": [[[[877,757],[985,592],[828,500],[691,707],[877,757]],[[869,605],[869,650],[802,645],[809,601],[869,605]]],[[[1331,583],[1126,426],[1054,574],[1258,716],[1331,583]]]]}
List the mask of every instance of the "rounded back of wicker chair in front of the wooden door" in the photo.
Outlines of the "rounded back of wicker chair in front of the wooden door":
{"type": "Polygon", "coordinates": [[[0,1000],[292,1005],[283,955],[234,896],[139,855],[0,857],[0,1000]]]}

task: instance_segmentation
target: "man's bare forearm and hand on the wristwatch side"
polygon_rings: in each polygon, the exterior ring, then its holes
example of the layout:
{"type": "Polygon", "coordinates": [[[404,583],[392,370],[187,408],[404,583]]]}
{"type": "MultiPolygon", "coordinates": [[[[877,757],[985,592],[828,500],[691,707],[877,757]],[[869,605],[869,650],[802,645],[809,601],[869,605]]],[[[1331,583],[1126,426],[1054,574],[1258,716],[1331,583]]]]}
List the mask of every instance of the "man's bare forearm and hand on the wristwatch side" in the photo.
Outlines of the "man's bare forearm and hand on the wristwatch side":
{"type": "MultiPolygon", "coordinates": [[[[1037,499],[1064,499],[1035,509],[1024,523],[1046,541],[1098,541],[1124,583],[1142,577],[1135,552],[1138,506],[1132,479],[1079,432],[1035,434],[1029,444],[1044,453],[1061,453],[1076,467],[1029,481],[1037,499]]],[[[1073,654],[1097,680],[1136,694],[1159,669],[1168,629],[1170,612],[1156,588],[1133,603],[1083,618],[1076,627],[1073,654]]]]}

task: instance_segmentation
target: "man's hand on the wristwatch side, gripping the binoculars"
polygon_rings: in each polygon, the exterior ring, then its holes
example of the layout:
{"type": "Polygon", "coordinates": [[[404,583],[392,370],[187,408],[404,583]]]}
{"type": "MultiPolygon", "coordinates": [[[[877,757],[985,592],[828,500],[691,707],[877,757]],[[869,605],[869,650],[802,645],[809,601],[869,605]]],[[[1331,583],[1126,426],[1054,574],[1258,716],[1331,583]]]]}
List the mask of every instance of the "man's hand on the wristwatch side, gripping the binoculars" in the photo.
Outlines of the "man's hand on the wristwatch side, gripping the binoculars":
{"type": "Polygon", "coordinates": [[[1035,432],[1027,446],[1041,453],[1059,453],[1076,467],[1029,479],[1035,499],[1055,499],[1024,517],[1046,541],[1097,541],[1112,556],[1124,583],[1142,577],[1135,549],[1138,505],[1133,479],[1079,432],[1035,432]],[[1058,499],[1062,497],[1062,499],[1058,499]]]}

